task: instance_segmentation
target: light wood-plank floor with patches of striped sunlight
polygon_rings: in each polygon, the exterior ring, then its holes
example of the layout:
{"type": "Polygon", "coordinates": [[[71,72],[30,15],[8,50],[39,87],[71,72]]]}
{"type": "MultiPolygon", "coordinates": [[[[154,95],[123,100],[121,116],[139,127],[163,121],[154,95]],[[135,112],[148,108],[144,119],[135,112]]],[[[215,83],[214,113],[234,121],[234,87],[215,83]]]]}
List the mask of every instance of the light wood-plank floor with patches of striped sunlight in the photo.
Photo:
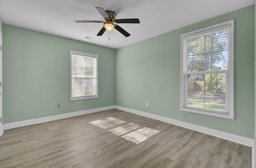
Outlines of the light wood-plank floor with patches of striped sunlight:
{"type": "Polygon", "coordinates": [[[251,154],[248,146],[117,109],[0,137],[0,168],[250,168],[251,154]]]}

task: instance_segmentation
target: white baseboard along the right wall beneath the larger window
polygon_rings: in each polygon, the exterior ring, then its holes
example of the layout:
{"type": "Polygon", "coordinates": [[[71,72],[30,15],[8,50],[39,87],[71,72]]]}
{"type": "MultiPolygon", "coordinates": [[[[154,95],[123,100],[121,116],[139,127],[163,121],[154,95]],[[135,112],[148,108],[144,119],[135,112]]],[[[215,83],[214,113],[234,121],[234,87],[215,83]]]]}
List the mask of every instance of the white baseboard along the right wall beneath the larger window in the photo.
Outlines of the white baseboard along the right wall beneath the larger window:
{"type": "Polygon", "coordinates": [[[198,131],[198,132],[202,132],[202,133],[205,133],[205,134],[209,134],[209,135],[212,135],[212,136],[216,136],[218,138],[230,140],[232,142],[236,142],[236,143],[243,144],[243,145],[250,146],[250,147],[254,148],[254,139],[251,139],[251,138],[246,138],[246,137],[243,137],[243,136],[230,134],[230,133],[227,133],[227,132],[222,132],[222,131],[219,131],[219,130],[206,128],[204,126],[194,125],[194,124],[186,123],[186,122],[183,122],[183,121],[178,121],[178,120],[170,119],[170,118],[167,118],[167,117],[162,117],[162,116],[159,116],[159,115],[145,113],[145,112],[138,111],[138,110],[128,109],[126,107],[116,106],[116,109],[119,109],[119,110],[122,110],[122,111],[127,111],[129,113],[134,113],[134,114],[137,114],[137,115],[142,115],[144,117],[149,117],[149,118],[156,119],[156,120],[159,120],[159,121],[163,121],[163,122],[166,122],[166,123],[182,126],[184,128],[188,128],[188,129],[191,129],[191,130],[195,130],[195,131],[198,131]]]}

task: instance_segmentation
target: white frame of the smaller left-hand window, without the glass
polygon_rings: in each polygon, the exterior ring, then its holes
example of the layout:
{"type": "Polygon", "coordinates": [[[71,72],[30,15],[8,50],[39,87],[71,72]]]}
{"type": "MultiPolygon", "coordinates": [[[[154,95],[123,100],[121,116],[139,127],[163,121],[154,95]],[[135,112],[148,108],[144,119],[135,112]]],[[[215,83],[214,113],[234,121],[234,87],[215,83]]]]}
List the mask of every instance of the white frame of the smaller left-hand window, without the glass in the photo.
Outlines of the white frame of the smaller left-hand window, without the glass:
{"type": "Polygon", "coordinates": [[[98,55],[96,54],[91,54],[91,53],[84,53],[84,52],[79,52],[79,51],[72,51],[70,50],[70,100],[73,101],[73,100],[81,100],[81,99],[94,99],[94,98],[98,98],[99,97],[99,93],[98,93],[98,55]],[[97,66],[97,72],[96,72],[96,95],[94,96],[81,96],[81,97],[72,97],[72,91],[73,91],[73,77],[72,77],[72,55],[81,55],[81,56],[85,56],[85,57],[93,57],[93,58],[96,58],[96,66],[97,66]]]}

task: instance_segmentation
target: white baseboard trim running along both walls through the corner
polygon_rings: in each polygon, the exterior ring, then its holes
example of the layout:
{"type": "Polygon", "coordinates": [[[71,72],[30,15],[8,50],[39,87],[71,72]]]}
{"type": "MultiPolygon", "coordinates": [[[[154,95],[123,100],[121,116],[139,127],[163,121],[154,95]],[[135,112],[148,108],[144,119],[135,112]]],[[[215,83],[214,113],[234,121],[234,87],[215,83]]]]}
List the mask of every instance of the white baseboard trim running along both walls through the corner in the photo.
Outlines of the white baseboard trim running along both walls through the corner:
{"type": "MultiPolygon", "coordinates": [[[[156,120],[163,121],[166,123],[182,126],[184,128],[188,128],[191,130],[195,130],[198,132],[216,136],[218,138],[230,140],[232,142],[236,142],[236,143],[243,144],[246,146],[254,147],[254,139],[251,139],[251,138],[246,138],[243,136],[238,136],[235,134],[230,134],[227,132],[222,132],[222,131],[214,130],[211,128],[206,128],[204,126],[194,125],[194,124],[186,123],[183,121],[178,121],[175,119],[170,119],[167,117],[162,117],[159,115],[154,115],[154,114],[150,114],[150,113],[146,113],[146,112],[142,112],[142,111],[138,111],[138,110],[134,110],[134,109],[128,109],[126,107],[121,107],[121,106],[117,106],[117,105],[108,106],[108,107],[100,107],[100,108],[96,108],[96,109],[89,109],[89,110],[83,110],[83,111],[76,111],[76,112],[65,113],[65,114],[61,114],[61,115],[53,115],[53,116],[42,117],[42,118],[38,118],[38,119],[30,119],[30,120],[18,121],[18,122],[13,122],[13,123],[6,123],[6,124],[3,124],[3,128],[4,128],[4,130],[6,130],[6,129],[16,128],[16,127],[20,127],[20,126],[44,123],[47,121],[64,119],[64,118],[68,118],[68,117],[85,115],[85,114],[89,114],[89,113],[96,113],[99,111],[105,111],[105,110],[111,110],[111,109],[119,109],[119,110],[126,111],[129,113],[134,113],[134,114],[141,115],[144,117],[149,117],[151,119],[156,119],[156,120]]],[[[254,150],[254,148],[253,148],[253,150],[254,150]]],[[[253,156],[254,156],[254,154],[253,154],[253,156]]]]}

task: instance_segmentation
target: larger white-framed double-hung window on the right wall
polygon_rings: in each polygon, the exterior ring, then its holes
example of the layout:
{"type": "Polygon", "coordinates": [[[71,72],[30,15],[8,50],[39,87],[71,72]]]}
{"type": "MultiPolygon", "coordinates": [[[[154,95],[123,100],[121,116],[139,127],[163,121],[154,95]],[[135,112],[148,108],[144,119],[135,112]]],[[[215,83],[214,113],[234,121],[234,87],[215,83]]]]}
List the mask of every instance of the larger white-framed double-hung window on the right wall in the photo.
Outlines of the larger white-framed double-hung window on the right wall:
{"type": "Polygon", "coordinates": [[[181,35],[180,110],[234,119],[234,20],[181,35]]]}

